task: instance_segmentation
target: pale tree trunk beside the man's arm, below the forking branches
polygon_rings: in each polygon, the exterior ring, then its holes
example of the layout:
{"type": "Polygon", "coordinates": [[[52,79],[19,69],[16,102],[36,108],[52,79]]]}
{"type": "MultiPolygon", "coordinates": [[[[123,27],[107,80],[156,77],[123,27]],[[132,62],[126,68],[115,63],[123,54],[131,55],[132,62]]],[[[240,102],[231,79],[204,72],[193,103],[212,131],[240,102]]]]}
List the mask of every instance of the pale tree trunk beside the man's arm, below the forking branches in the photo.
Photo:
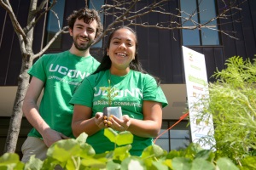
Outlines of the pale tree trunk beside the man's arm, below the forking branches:
{"type": "Polygon", "coordinates": [[[6,144],[3,150],[4,153],[15,153],[16,150],[16,144],[20,133],[21,119],[23,116],[23,100],[26,94],[26,89],[29,85],[29,75],[26,72],[30,67],[29,65],[32,65],[32,60],[27,60],[25,57],[23,57],[20,75],[18,77],[18,88],[15,97],[15,103],[13,107],[12,116],[9,122],[8,136],[6,138],[6,144]]]}

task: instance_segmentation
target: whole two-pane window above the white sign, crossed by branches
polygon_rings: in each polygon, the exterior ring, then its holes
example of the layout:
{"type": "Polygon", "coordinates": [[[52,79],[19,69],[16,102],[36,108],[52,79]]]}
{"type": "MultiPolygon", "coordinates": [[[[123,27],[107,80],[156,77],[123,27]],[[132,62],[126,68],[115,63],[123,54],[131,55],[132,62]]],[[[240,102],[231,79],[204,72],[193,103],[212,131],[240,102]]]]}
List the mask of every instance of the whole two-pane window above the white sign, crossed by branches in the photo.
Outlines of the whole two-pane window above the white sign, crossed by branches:
{"type": "MultiPolygon", "coordinates": [[[[180,7],[182,17],[195,20],[195,23],[182,19],[183,27],[192,28],[199,24],[206,23],[216,17],[215,0],[181,0],[180,7]],[[192,15],[191,15],[192,14],[192,15]]],[[[183,45],[219,45],[217,20],[208,23],[200,29],[183,29],[183,45]]]]}

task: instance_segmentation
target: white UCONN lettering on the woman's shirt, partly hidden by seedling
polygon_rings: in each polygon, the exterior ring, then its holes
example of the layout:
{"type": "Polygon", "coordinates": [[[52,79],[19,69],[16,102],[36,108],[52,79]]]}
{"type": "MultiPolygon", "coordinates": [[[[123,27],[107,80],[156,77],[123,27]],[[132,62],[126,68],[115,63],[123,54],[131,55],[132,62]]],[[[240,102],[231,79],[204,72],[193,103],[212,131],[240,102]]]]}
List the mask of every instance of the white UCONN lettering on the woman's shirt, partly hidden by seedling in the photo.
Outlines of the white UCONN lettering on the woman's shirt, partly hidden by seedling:
{"type": "MultiPolygon", "coordinates": [[[[99,95],[107,95],[108,92],[106,91],[102,91],[101,88],[95,88],[96,93],[94,94],[94,96],[99,96],[99,95]]],[[[127,97],[127,96],[131,96],[134,98],[143,98],[143,93],[141,91],[140,88],[131,88],[131,89],[124,89],[124,90],[116,90],[114,91],[114,93],[117,93],[118,95],[116,97],[118,98],[122,98],[122,97],[127,97]]]]}

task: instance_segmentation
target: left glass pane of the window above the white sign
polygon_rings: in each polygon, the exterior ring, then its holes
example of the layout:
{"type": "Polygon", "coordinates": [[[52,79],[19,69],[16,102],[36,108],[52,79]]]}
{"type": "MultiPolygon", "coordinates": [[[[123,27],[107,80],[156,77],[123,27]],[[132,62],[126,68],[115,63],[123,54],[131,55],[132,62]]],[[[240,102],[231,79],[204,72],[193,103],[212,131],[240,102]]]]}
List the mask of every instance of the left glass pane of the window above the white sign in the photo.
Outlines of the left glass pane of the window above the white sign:
{"type": "MultiPolygon", "coordinates": [[[[196,0],[181,0],[180,1],[181,14],[184,18],[189,18],[189,14],[195,15],[192,17],[192,20],[198,22],[198,15],[196,14],[196,0]]],[[[184,23],[182,19],[183,27],[189,28],[190,26],[195,26],[191,21],[184,23]]],[[[183,32],[183,45],[200,45],[200,33],[198,30],[182,30],[183,32]]]]}

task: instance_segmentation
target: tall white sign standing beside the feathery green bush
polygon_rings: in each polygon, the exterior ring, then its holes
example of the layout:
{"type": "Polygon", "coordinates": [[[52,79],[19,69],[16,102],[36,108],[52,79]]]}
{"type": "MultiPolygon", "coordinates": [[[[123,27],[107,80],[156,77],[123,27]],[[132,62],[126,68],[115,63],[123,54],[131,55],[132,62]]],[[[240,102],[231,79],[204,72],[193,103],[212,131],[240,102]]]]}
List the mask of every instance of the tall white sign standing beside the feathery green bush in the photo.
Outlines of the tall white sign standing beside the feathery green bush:
{"type": "Polygon", "coordinates": [[[213,149],[212,145],[215,144],[215,140],[212,139],[214,133],[212,116],[201,117],[200,114],[202,109],[207,106],[205,103],[202,105],[201,101],[208,97],[205,56],[192,49],[183,47],[183,64],[192,142],[200,144],[205,150],[213,149]],[[207,138],[207,143],[203,141],[204,138],[207,138]],[[208,139],[210,138],[212,143],[209,143],[208,139]]]}

